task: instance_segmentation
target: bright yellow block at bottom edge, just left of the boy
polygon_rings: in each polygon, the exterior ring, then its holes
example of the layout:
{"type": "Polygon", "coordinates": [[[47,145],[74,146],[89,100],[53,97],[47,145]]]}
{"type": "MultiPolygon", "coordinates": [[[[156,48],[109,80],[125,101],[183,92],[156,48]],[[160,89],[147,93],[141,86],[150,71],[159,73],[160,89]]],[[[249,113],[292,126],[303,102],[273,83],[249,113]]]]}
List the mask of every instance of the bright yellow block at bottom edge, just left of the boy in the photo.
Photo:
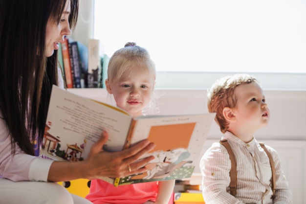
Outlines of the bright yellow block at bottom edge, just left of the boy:
{"type": "Polygon", "coordinates": [[[205,204],[202,193],[175,193],[174,204],[205,204]]]}

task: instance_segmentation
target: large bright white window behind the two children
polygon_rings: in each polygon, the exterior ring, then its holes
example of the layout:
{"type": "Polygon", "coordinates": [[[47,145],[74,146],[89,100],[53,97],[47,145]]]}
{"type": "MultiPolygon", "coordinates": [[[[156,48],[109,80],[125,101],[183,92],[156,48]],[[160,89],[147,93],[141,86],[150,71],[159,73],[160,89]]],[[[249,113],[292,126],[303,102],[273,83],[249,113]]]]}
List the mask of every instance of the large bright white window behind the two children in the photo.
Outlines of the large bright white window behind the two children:
{"type": "Polygon", "coordinates": [[[161,87],[248,72],[263,88],[306,89],[305,10],[301,0],[95,0],[93,37],[109,56],[126,42],[147,48],[161,87]]]}

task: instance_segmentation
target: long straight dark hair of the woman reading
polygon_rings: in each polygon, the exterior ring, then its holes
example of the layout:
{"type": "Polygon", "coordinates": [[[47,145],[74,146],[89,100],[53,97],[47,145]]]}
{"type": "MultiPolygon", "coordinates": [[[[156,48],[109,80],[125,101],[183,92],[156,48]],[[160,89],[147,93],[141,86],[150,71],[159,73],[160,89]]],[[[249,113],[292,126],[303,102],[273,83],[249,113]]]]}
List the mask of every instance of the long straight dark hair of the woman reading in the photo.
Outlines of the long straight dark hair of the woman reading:
{"type": "MultiPolygon", "coordinates": [[[[78,0],[70,0],[75,27],[78,0]]],[[[12,141],[34,155],[40,145],[52,85],[58,84],[57,50],[45,56],[46,25],[60,22],[66,0],[0,0],[0,116],[12,141]]]]}

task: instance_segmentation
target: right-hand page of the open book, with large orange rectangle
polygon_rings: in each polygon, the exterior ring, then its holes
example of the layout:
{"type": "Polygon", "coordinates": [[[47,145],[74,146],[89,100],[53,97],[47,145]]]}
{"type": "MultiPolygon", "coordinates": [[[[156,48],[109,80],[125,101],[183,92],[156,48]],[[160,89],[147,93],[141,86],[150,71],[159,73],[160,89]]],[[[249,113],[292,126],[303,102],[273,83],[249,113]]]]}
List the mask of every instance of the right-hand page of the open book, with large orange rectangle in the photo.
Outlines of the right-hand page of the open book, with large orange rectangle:
{"type": "Polygon", "coordinates": [[[148,138],[155,143],[149,155],[155,159],[139,175],[122,178],[119,185],[190,178],[215,113],[136,118],[131,144],[148,138]]]}

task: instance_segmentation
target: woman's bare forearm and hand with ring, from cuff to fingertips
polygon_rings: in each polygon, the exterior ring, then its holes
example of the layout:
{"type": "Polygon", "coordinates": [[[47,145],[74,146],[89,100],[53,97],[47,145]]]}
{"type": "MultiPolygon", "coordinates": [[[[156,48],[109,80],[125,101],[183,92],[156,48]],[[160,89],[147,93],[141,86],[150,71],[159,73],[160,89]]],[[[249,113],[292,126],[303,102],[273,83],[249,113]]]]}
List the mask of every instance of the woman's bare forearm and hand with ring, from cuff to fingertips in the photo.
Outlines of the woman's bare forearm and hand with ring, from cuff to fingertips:
{"type": "Polygon", "coordinates": [[[100,139],[90,149],[83,161],[54,161],[48,173],[48,181],[71,181],[75,179],[97,179],[99,177],[125,177],[145,172],[144,167],[153,156],[139,159],[155,147],[149,140],[143,140],[120,152],[106,152],[103,145],[108,140],[104,131],[100,139]]]}

